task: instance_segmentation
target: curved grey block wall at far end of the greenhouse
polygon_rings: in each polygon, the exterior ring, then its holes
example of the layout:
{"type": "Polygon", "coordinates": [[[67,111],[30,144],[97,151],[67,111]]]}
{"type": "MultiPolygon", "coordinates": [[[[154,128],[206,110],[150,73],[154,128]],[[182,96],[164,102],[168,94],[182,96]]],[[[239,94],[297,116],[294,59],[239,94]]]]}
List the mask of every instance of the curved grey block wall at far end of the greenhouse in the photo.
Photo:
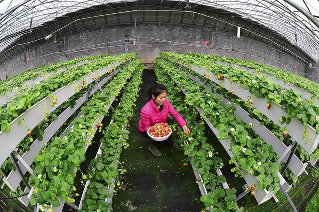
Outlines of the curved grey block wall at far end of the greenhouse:
{"type": "MultiPolygon", "coordinates": [[[[0,77],[88,55],[124,53],[126,45],[131,52],[138,52],[145,63],[154,62],[160,51],[196,52],[252,60],[311,78],[303,74],[309,71],[306,65],[275,45],[246,37],[237,38],[235,34],[221,30],[177,24],[116,25],[52,36],[50,40],[30,46],[24,53],[0,64],[0,77]],[[204,41],[208,41],[208,46],[203,45],[204,41]],[[30,62],[26,62],[26,58],[30,58],[30,62]],[[293,69],[294,65],[298,70],[293,69]]],[[[312,76],[318,75],[316,70],[312,71],[312,76]]],[[[318,82],[318,78],[313,78],[318,82]]]]}

